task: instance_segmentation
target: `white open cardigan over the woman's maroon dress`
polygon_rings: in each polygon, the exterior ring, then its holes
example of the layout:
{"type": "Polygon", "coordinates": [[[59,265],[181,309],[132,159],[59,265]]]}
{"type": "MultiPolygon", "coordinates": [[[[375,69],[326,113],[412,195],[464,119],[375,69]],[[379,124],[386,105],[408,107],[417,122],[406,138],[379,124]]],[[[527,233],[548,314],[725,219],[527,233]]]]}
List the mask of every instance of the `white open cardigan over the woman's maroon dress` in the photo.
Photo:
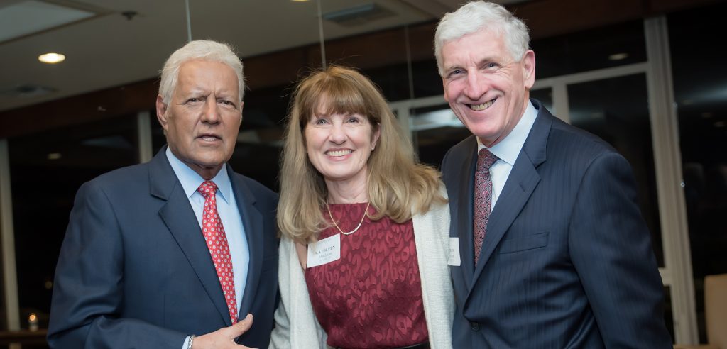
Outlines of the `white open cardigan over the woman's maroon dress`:
{"type": "MultiPolygon", "coordinates": [[[[449,206],[432,206],[429,212],[414,215],[412,222],[429,342],[431,348],[449,349],[452,348],[454,313],[454,295],[447,265],[449,206]]],[[[326,332],[318,324],[310,305],[295,244],[289,238],[281,239],[279,258],[281,302],[275,313],[276,327],[269,348],[330,348],[326,345],[326,332]]]]}

